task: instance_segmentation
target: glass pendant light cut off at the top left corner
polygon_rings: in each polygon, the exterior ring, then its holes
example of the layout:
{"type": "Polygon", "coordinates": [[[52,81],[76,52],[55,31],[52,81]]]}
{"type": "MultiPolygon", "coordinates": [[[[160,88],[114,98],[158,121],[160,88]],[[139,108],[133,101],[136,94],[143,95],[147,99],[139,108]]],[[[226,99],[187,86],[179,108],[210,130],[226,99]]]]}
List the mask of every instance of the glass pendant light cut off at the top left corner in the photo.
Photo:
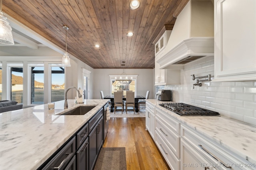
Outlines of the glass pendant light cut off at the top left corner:
{"type": "Polygon", "coordinates": [[[2,0],[0,0],[0,43],[14,45],[12,27],[9,25],[7,17],[2,12],[2,0]]]}

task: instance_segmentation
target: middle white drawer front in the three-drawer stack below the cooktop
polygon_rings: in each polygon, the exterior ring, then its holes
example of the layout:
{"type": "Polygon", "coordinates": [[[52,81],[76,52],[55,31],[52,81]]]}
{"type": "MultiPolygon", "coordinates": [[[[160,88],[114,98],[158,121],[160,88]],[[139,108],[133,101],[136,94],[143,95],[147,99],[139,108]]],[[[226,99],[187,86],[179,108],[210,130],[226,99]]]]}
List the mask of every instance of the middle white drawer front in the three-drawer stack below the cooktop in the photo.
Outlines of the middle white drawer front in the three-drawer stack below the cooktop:
{"type": "Polygon", "coordinates": [[[162,121],[156,118],[156,131],[166,142],[167,146],[174,152],[177,158],[180,158],[180,137],[169,129],[162,121]]]}

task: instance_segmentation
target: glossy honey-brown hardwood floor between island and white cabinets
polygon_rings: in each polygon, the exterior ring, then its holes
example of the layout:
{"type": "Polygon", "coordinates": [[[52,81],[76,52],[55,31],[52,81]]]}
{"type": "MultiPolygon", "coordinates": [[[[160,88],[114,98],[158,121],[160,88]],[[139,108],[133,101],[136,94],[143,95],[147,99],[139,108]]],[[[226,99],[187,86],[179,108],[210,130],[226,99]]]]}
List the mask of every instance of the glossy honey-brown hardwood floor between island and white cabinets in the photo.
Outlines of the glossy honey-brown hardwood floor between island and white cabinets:
{"type": "Polygon", "coordinates": [[[103,147],[126,147],[127,170],[167,170],[146,131],[145,117],[110,118],[103,147]]]}

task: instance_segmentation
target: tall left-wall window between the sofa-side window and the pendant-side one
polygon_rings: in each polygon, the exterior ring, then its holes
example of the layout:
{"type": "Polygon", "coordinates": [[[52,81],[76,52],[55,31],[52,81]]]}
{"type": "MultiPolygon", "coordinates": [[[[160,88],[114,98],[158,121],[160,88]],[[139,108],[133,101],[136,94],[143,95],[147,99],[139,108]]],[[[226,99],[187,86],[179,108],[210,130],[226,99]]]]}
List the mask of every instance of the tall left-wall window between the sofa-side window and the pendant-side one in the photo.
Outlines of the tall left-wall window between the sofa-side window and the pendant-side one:
{"type": "Polygon", "coordinates": [[[30,69],[31,104],[44,104],[44,67],[31,66],[30,69]]]}

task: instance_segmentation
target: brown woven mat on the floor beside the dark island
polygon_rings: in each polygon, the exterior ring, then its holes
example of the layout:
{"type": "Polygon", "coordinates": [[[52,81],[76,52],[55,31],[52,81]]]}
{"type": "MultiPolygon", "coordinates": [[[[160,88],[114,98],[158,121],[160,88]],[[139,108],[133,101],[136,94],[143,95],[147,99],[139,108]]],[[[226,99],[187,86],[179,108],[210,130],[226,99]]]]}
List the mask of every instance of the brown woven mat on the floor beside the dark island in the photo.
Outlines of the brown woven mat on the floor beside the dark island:
{"type": "Polygon", "coordinates": [[[125,147],[101,148],[94,170],[126,170],[125,147]]]}

